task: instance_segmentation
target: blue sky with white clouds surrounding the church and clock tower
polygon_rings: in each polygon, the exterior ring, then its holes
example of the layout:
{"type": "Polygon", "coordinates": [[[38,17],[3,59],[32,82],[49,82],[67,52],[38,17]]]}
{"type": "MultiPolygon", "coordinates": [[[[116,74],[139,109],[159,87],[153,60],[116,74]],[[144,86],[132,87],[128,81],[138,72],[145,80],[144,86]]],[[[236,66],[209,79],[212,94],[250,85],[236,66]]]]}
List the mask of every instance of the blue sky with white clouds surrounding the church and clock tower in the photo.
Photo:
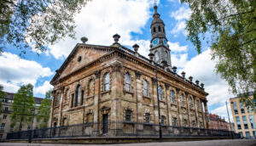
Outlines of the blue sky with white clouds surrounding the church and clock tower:
{"type": "MultiPolygon", "coordinates": [[[[132,49],[137,43],[138,53],[148,57],[151,39],[150,24],[154,13],[154,4],[158,6],[160,18],[166,25],[166,37],[171,49],[172,65],[177,72],[186,72],[186,77],[193,76],[205,84],[207,105],[210,113],[221,115],[227,120],[225,101],[235,97],[229,92],[229,86],[218,74],[212,60],[210,44],[202,43],[202,53],[198,54],[195,47],[187,41],[185,31],[186,20],[191,11],[179,0],[92,0],[87,3],[79,14],[76,14],[76,39],[62,38],[44,53],[27,52],[20,58],[20,50],[6,45],[0,55],[0,84],[3,91],[16,93],[23,84],[34,86],[34,96],[44,98],[44,94],[52,88],[49,81],[55,75],[68,54],[71,53],[80,38],[86,36],[88,44],[110,46],[113,35],[121,37],[119,43],[132,49]]],[[[230,104],[229,104],[230,109],[230,104]]],[[[232,121],[232,118],[230,119],[232,121]]]]}

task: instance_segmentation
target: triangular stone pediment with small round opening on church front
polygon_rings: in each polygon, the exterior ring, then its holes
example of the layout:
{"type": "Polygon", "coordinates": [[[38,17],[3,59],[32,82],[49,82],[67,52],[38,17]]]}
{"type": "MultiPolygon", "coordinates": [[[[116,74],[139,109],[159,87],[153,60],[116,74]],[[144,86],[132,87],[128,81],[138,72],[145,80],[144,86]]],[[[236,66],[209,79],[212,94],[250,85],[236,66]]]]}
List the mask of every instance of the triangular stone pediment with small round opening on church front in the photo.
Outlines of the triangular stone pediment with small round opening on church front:
{"type": "MultiPolygon", "coordinates": [[[[88,65],[90,62],[102,57],[106,53],[112,51],[111,48],[105,46],[95,46],[87,44],[77,45],[72,53],[69,54],[60,70],[56,70],[56,74],[52,81],[56,81],[58,78],[67,76],[75,70],[88,65]]],[[[51,82],[52,82],[51,81],[51,82]]]]}

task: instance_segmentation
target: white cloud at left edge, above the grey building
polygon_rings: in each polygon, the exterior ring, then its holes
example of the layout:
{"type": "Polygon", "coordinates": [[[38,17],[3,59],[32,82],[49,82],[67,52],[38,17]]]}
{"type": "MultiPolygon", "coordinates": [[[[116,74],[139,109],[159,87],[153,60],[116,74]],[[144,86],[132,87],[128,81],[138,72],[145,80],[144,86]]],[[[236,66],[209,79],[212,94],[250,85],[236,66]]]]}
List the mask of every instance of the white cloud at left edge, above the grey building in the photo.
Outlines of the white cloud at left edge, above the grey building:
{"type": "Polygon", "coordinates": [[[4,52],[0,56],[0,84],[3,90],[15,93],[22,84],[35,85],[38,78],[51,76],[53,72],[35,61],[20,59],[13,53],[4,52]]]}

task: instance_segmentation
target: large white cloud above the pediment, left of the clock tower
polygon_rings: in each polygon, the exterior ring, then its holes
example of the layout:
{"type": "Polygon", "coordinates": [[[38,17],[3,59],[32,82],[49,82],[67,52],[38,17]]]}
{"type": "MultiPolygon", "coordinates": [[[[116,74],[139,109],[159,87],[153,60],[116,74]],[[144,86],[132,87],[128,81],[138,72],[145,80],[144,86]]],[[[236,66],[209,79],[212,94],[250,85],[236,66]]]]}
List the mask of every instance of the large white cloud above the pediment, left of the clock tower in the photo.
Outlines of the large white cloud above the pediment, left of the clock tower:
{"type": "MultiPolygon", "coordinates": [[[[125,42],[131,41],[131,32],[142,33],[141,28],[151,17],[149,8],[153,4],[154,1],[150,0],[91,1],[75,18],[76,37],[88,37],[89,44],[111,45],[113,34],[118,33],[121,36],[121,44],[132,46],[133,44],[125,42]]],[[[69,37],[63,38],[55,45],[49,46],[49,52],[56,59],[67,57],[78,42],[80,41],[69,37]]]]}

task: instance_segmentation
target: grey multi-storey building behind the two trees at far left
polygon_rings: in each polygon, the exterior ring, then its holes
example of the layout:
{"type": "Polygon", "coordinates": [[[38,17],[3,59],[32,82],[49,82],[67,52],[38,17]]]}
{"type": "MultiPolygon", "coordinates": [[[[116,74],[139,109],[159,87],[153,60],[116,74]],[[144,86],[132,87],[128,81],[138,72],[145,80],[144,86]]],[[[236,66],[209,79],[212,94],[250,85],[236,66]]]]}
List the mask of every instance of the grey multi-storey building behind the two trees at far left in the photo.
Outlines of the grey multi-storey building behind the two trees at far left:
{"type": "MultiPolygon", "coordinates": [[[[6,93],[6,94],[7,94],[7,96],[2,100],[2,113],[0,115],[0,118],[1,118],[1,120],[0,120],[0,123],[1,123],[0,139],[6,138],[7,132],[13,132],[13,131],[15,131],[15,129],[17,129],[17,127],[15,127],[15,126],[11,127],[11,117],[10,117],[10,115],[12,113],[11,107],[14,102],[13,98],[15,96],[15,93],[6,93]]],[[[33,124],[27,125],[26,123],[23,122],[22,131],[39,128],[40,121],[37,121],[36,115],[38,114],[38,110],[37,110],[38,106],[41,104],[41,101],[44,98],[34,98],[34,99],[36,102],[36,110],[34,111],[35,116],[33,118],[33,122],[32,122],[33,124]]]]}

